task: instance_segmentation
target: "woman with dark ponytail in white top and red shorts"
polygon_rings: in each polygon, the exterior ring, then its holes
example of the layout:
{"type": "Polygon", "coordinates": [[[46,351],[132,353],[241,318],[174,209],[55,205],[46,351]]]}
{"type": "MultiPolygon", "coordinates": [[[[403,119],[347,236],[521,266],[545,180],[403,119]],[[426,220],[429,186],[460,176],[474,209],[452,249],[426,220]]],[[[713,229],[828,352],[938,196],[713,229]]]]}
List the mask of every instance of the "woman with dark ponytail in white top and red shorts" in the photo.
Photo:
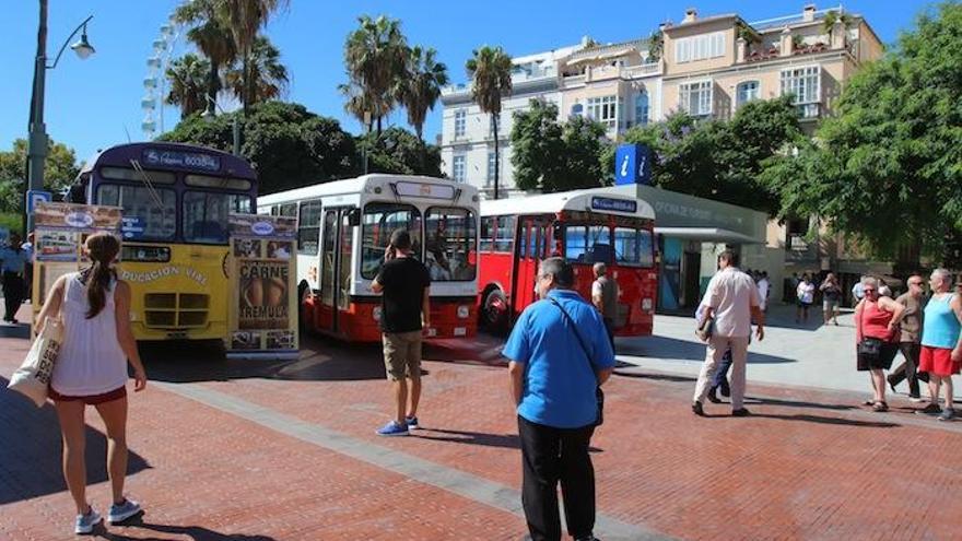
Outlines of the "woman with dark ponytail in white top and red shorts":
{"type": "Polygon", "coordinates": [[[130,330],[130,286],[117,280],[113,267],[119,251],[115,236],[91,235],[85,245],[91,267],[57,280],[37,317],[37,332],[49,317],[60,317],[63,324],[63,343],[49,396],[63,435],[63,477],[77,504],[75,533],[90,533],[103,520],[86,501],[86,405],[96,408],[107,428],[107,472],[113,490],[109,522],[127,520],[141,510],[137,502],[124,496],[127,363],[133,366],[134,391],[146,387],[146,374],[130,330]]]}

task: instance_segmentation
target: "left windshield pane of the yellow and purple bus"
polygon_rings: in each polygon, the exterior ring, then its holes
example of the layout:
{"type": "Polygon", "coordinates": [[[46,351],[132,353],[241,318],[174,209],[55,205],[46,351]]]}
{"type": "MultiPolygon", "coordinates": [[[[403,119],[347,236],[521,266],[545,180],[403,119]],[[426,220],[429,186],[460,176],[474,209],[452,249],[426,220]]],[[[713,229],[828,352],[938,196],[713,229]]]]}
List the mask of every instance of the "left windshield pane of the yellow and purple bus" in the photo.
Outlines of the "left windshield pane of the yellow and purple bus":
{"type": "Polygon", "coordinates": [[[177,195],[173,189],[146,186],[102,184],[97,203],[124,208],[129,239],[173,240],[177,234],[177,195]]]}

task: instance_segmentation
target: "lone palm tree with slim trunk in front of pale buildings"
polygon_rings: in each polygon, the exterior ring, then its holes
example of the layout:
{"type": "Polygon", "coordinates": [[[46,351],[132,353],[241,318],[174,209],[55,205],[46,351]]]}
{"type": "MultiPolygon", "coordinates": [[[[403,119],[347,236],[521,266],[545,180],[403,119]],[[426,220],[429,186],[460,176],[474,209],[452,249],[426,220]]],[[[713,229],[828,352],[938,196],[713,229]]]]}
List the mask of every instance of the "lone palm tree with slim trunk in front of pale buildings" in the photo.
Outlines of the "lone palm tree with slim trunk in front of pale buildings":
{"type": "Polygon", "coordinates": [[[465,63],[468,77],[472,79],[471,97],[482,113],[491,115],[491,129],[494,132],[494,199],[497,199],[498,141],[497,124],[501,117],[501,98],[512,91],[512,60],[501,47],[484,46],[473,51],[473,58],[465,63]]]}

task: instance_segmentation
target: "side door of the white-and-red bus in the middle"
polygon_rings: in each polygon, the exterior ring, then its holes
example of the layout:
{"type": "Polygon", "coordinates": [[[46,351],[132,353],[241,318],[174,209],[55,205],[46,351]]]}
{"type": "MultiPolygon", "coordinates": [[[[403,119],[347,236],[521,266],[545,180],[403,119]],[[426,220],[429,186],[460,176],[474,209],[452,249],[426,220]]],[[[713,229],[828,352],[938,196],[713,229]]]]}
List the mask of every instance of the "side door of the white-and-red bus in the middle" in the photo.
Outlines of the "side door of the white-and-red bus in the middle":
{"type": "Polygon", "coordinates": [[[338,333],[343,313],[351,303],[351,260],[353,232],[352,208],[327,208],[324,211],[320,245],[320,306],[318,330],[338,333]]]}

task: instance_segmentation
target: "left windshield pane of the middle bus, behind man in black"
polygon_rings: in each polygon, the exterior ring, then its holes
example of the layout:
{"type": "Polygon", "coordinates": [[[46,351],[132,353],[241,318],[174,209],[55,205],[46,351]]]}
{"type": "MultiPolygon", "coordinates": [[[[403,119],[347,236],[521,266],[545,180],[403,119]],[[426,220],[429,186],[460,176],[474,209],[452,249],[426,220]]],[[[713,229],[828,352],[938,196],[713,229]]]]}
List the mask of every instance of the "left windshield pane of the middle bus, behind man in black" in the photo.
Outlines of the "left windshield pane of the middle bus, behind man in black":
{"type": "Polygon", "coordinates": [[[421,258],[421,212],[410,204],[368,203],[361,219],[361,275],[374,280],[395,230],[411,234],[411,256],[421,258]]]}

